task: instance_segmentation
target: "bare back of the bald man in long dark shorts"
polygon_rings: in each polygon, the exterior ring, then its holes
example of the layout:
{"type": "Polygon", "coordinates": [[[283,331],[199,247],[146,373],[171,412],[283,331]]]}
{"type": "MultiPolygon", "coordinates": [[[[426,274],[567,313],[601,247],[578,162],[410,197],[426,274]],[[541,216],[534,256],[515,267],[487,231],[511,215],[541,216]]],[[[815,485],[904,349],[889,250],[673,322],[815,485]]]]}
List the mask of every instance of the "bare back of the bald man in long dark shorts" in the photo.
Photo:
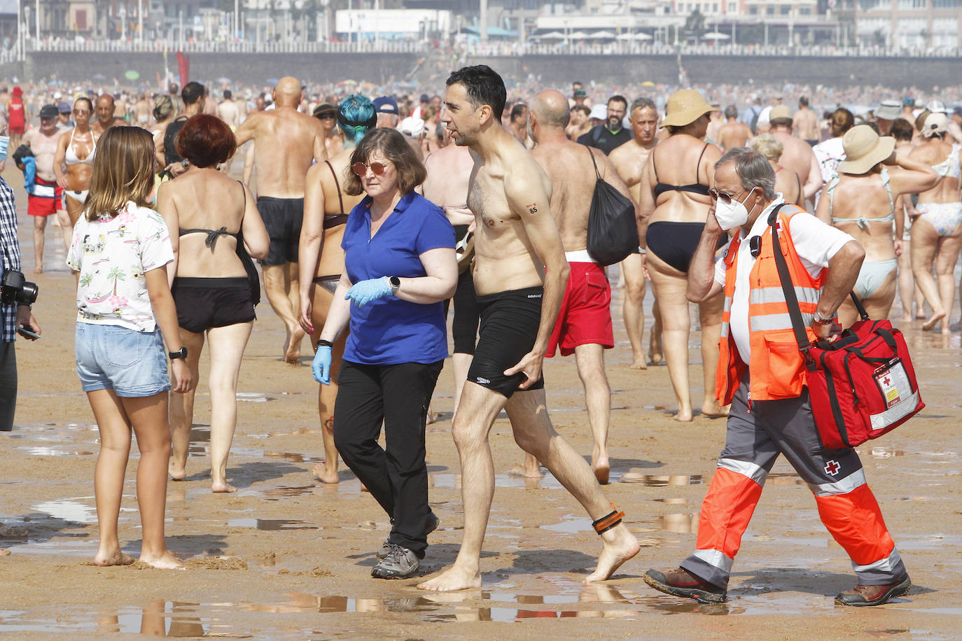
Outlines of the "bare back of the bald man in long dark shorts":
{"type": "Polygon", "coordinates": [[[292,109],[260,114],[254,132],[254,166],[259,196],[302,198],[314,160],[320,121],[292,109]]]}

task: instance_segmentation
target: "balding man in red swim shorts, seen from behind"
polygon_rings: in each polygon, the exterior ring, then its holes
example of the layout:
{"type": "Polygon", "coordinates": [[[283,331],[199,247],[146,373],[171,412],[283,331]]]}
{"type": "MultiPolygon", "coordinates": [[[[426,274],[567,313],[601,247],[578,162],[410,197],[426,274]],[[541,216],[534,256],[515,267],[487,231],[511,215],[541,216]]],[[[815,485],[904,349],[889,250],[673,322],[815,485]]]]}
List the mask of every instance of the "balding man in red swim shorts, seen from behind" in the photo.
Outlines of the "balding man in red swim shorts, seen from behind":
{"type": "MultiPolygon", "coordinates": [[[[606,484],[611,389],[605,376],[603,350],[615,346],[615,336],[611,326],[611,286],[604,267],[588,255],[587,249],[588,215],[595,194],[595,181],[590,177],[595,176],[595,168],[601,179],[625,198],[630,200],[631,194],[604,152],[568,139],[568,118],[568,99],[555,89],[536,95],[528,110],[528,131],[537,143],[531,155],[554,186],[549,206],[570,265],[565,297],[544,356],[553,357],[559,347],[562,356],[574,355],[595,439],[592,469],[598,482],[606,484]]],[[[528,460],[525,468],[530,466],[528,460]]]]}

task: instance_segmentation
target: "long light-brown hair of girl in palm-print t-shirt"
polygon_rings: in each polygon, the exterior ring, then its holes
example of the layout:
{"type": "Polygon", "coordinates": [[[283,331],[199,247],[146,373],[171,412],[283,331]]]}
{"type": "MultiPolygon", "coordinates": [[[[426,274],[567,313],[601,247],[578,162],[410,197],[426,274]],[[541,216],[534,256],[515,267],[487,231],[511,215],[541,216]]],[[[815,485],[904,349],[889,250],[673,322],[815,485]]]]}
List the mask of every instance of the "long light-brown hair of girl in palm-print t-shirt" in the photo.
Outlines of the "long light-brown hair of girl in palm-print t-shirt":
{"type": "Polygon", "coordinates": [[[154,190],[154,136],[139,127],[114,125],[97,140],[89,195],[88,220],[115,216],[127,202],[148,207],[154,190]]]}

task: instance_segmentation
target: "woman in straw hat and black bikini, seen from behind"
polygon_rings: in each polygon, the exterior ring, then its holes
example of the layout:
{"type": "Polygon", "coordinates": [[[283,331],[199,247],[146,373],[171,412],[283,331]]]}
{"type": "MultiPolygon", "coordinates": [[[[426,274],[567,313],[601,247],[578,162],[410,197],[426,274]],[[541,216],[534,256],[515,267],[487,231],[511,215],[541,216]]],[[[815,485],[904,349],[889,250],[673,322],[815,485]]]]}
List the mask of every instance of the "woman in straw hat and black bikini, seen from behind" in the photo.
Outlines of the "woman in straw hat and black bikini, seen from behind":
{"type": "MultiPolygon", "coordinates": [[[[678,401],[675,420],[691,421],[688,264],[705,226],[711,202],[708,186],[722,152],[701,139],[708,129],[709,113],[714,110],[696,90],[673,93],[666,111],[662,127],[667,127],[671,136],[658,143],[648,156],[639,194],[643,228],[646,228],[642,244],[647,254],[643,259],[662,315],[665,360],[678,401]]],[[[701,413],[716,416],[723,413],[713,398],[722,329],[722,297],[699,304],[698,308],[705,385],[701,413]]]]}

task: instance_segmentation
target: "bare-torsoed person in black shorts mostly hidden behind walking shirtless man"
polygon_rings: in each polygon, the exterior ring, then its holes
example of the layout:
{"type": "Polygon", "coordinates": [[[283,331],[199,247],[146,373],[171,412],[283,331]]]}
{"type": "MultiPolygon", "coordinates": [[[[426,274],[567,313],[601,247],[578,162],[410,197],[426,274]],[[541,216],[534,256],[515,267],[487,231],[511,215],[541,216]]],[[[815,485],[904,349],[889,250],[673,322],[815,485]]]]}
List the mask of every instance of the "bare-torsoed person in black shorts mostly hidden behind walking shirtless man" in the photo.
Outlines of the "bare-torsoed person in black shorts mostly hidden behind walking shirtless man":
{"type": "Polygon", "coordinates": [[[421,194],[444,210],[448,221],[454,227],[459,256],[458,287],[454,290],[451,302],[454,304],[454,319],[451,321],[451,337],[454,351],[451,363],[454,368],[454,413],[458,413],[461,392],[468,378],[468,367],[474,357],[474,341],[478,331],[478,308],[474,295],[474,280],[469,267],[461,264],[468,242],[473,246],[474,214],[468,209],[468,183],[474,159],[468,147],[448,144],[432,152],[424,159],[427,180],[421,185],[421,194]],[[470,240],[468,240],[470,238],[470,240]]]}

